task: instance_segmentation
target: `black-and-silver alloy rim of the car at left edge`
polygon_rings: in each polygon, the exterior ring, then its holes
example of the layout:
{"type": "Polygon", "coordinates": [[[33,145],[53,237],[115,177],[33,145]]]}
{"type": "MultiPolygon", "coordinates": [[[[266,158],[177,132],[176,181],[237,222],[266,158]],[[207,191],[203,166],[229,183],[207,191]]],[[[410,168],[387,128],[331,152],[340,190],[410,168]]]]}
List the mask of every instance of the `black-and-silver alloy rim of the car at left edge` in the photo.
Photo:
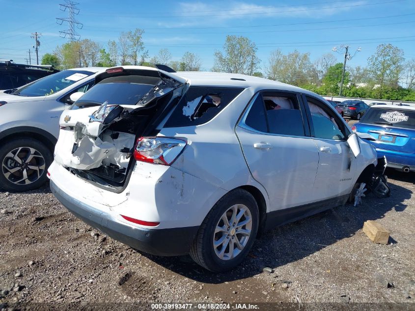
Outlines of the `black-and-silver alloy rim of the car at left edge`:
{"type": "Polygon", "coordinates": [[[28,185],[44,173],[46,163],[43,155],[31,147],[18,147],[5,155],[1,171],[6,179],[16,185],[28,185]]]}

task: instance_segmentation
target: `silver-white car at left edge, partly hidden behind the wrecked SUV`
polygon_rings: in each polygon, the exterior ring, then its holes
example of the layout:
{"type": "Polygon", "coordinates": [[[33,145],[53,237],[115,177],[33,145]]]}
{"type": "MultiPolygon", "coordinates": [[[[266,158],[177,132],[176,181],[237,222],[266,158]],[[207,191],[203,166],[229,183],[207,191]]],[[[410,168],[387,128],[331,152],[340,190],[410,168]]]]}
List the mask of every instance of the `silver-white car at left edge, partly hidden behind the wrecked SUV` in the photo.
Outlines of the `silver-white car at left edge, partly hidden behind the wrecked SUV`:
{"type": "Polygon", "coordinates": [[[59,135],[59,116],[95,83],[105,68],[57,72],[0,91],[0,188],[28,191],[47,181],[59,135]]]}

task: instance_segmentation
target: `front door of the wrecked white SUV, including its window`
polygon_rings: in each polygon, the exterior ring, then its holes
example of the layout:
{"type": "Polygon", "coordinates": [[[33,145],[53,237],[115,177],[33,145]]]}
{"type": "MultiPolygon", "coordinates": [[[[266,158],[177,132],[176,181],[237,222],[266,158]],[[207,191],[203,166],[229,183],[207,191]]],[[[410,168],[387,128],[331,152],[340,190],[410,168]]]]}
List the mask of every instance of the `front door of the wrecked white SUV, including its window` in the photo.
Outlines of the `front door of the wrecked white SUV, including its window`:
{"type": "Polygon", "coordinates": [[[356,158],[347,143],[350,130],[326,103],[311,96],[304,98],[311,136],[320,158],[313,191],[319,200],[348,195],[357,169],[356,158]]]}

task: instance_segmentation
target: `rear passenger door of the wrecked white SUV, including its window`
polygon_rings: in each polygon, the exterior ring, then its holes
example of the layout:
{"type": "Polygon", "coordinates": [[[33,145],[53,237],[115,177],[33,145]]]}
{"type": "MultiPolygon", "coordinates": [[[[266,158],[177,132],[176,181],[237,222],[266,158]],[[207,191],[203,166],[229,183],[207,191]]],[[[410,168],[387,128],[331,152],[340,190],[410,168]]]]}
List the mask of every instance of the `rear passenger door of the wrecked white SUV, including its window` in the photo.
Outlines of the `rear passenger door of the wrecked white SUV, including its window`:
{"type": "Polygon", "coordinates": [[[256,95],[236,127],[249,170],[266,189],[271,211],[315,199],[318,150],[303,120],[300,94],[267,91],[256,95]]]}

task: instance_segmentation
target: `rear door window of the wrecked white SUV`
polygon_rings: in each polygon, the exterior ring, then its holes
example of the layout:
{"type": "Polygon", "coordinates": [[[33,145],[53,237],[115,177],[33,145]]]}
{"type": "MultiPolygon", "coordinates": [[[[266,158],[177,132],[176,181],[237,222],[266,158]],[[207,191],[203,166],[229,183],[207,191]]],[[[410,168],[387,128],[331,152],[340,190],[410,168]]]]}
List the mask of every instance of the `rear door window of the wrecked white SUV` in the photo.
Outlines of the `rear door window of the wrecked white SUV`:
{"type": "Polygon", "coordinates": [[[264,133],[305,136],[303,116],[296,94],[259,94],[244,122],[250,128],[264,133]]]}

